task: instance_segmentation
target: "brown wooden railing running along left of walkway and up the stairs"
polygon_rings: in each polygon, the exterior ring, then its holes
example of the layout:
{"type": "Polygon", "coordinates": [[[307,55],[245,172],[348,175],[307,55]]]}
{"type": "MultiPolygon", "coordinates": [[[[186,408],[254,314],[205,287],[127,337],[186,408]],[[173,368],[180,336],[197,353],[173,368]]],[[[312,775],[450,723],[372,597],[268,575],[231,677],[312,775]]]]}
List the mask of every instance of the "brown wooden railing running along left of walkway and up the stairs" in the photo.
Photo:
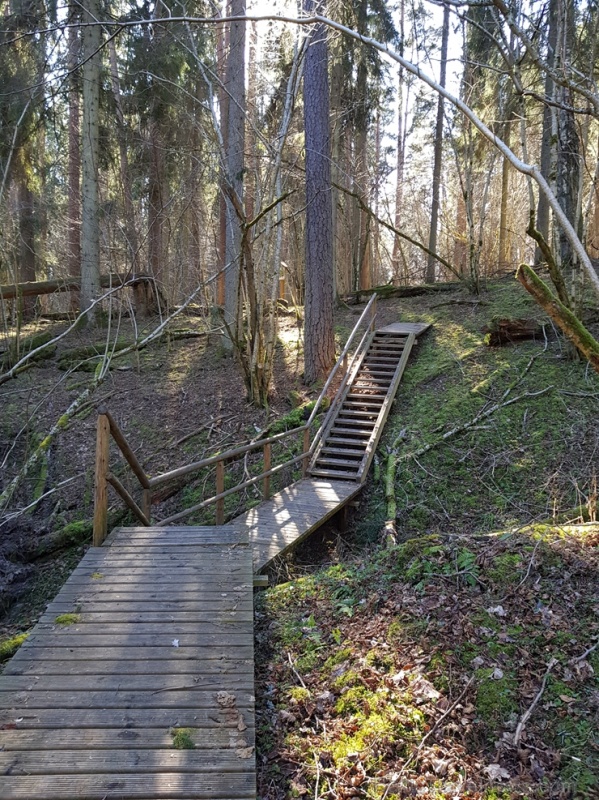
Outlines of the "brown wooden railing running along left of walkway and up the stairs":
{"type": "Polygon", "coordinates": [[[148,477],[145,471],[143,470],[142,466],[140,465],[139,461],[137,460],[133,450],[127,443],[125,436],[123,435],[122,431],[118,427],[115,420],[112,418],[110,413],[103,408],[98,409],[98,427],[97,427],[97,439],[96,439],[96,477],[95,477],[95,507],[94,507],[94,533],[93,533],[93,543],[95,546],[99,546],[102,544],[104,539],[106,538],[107,530],[108,530],[108,485],[112,486],[112,488],[116,491],[116,493],[121,497],[125,505],[133,512],[134,516],[137,518],[142,525],[149,526],[152,524],[152,502],[153,502],[153,492],[158,487],[163,486],[166,483],[171,481],[177,480],[179,478],[185,477],[187,475],[193,475],[194,473],[199,472],[200,470],[206,467],[215,467],[216,468],[216,493],[212,496],[203,500],[201,503],[197,503],[196,505],[190,506],[186,508],[184,511],[180,511],[177,514],[173,514],[166,519],[160,520],[159,522],[154,523],[157,526],[164,526],[164,525],[172,525],[175,522],[179,522],[185,517],[190,516],[191,514],[195,514],[198,511],[201,511],[209,506],[214,505],[216,507],[216,524],[223,525],[225,522],[225,498],[229,497],[236,492],[240,492],[244,489],[249,488],[250,486],[254,486],[258,483],[262,483],[262,499],[267,500],[270,497],[271,491],[271,479],[279,474],[282,470],[294,466],[295,464],[301,463],[302,465],[302,475],[305,476],[306,471],[308,469],[308,465],[310,463],[310,458],[314,453],[316,446],[322,436],[323,430],[326,428],[329,420],[331,417],[336,413],[337,405],[339,403],[339,399],[343,393],[343,390],[347,384],[347,381],[352,373],[352,369],[354,365],[357,363],[361,353],[367,346],[368,340],[370,338],[371,333],[374,331],[375,328],[375,319],[376,319],[376,295],[372,295],[368,305],[362,312],[359,320],[354,326],[345,347],[343,348],[337,363],[331,370],[331,374],[329,375],[326,383],[322,387],[322,390],[316,400],[310,417],[308,420],[303,424],[296,428],[292,428],[288,431],[283,431],[282,433],[275,434],[274,436],[270,436],[267,439],[262,439],[257,442],[251,442],[249,444],[243,445],[241,447],[236,447],[231,450],[227,450],[224,453],[218,453],[217,455],[210,456],[209,458],[204,458],[201,461],[195,461],[192,464],[186,464],[183,467],[178,467],[177,469],[170,470],[169,472],[164,472],[161,475],[157,475],[153,478],[148,477]],[[358,331],[361,329],[362,325],[367,321],[366,329],[354,349],[352,356],[350,357],[349,353],[352,349],[352,345],[354,344],[355,339],[358,336],[358,331]],[[340,386],[337,389],[335,397],[333,398],[331,405],[328,409],[328,412],[319,426],[318,430],[315,432],[314,437],[311,437],[311,429],[314,424],[314,420],[316,419],[316,415],[320,410],[325,397],[327,396],[327,392],[331,387],[335,377],[342,373],[342,379],[340,386]],[[301,435],[301,453],[299,455],[294,456],[293,458],[287,459],[282,463],[278,464],[277,466],[273,467],[271,465],[271,458],[272,458],[272,445],[275,443],[282,442],[292,436],[300,436],[301,435]],[[110,471],[110,439],[114,439],[116,444],[118,445],[119,450],[123,454],[126,462],[128,463],[129,467],[131,468],[133,474],[137,478],[137,481],[141,488],[141,505],[135,501],[133,496],[129,493],[129,491],[123,486],[121,481],[110,471]],[[242,457],[246,457],[247,454],[262,450],[262,472],[259,475],[256,475],[252,478],[248,478],[241,483],[236,484],[235,486],[225,489],[225,466],[233,461],[238,461],[242,457]]]}

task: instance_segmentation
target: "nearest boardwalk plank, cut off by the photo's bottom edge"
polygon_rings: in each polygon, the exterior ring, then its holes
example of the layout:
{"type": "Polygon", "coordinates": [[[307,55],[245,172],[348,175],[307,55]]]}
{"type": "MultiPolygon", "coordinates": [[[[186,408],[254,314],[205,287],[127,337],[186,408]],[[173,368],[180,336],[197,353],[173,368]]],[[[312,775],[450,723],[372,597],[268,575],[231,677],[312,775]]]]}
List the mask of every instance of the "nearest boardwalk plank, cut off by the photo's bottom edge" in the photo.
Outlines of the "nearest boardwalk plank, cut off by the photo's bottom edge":
{"type": "Polygon", "coordinates": [[[136,773],[109,775],[7,775],[0,785],[0,800],[104,800],[107,797],[154,798],[194,798],[195,800],[214,800],[215,798],[253,798],[255,797],[255,775],[253,771],[243,773],[222,773],[220,775],[189,775],[186,773],[164,772],[142,776],[136,773]]]}

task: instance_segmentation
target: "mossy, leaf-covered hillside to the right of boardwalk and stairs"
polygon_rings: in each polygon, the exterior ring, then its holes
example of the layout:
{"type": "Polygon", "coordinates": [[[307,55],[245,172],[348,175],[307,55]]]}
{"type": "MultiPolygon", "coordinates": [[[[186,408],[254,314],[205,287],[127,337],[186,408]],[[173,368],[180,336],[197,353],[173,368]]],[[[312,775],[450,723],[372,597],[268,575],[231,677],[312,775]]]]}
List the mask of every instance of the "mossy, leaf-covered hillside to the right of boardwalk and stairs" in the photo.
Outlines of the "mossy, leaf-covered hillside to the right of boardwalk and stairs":
{"type": "Polygon", "coordinates": [[[485,345],[546,323],[513,283],[390,305],[434,327],[354,524],[260,595],[259,796],[597,797],[599,526],[560,523],[596,512],[599,376],[548,324],[485,345]]]}

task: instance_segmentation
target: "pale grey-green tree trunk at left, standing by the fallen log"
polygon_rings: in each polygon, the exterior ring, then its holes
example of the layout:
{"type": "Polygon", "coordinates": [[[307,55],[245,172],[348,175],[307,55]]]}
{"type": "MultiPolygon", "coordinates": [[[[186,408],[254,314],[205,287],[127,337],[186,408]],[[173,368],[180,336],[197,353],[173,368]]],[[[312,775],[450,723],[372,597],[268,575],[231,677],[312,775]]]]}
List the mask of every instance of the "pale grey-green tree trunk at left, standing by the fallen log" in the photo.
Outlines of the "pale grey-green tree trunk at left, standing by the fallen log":
{"type": "MultiPolygon", "coordinates": [[[[102,16],[99,0],[85,0],[84,23],[102,16]]],[[[100,45],[99,25],[83,28],[83,141],[81,197],[81,309],[89,308],[100,293],[100,218],[98,155],[100,147],[100,45]]],[[[87,323],[95,323],[97,306],[90,309],[87,323]]]]}

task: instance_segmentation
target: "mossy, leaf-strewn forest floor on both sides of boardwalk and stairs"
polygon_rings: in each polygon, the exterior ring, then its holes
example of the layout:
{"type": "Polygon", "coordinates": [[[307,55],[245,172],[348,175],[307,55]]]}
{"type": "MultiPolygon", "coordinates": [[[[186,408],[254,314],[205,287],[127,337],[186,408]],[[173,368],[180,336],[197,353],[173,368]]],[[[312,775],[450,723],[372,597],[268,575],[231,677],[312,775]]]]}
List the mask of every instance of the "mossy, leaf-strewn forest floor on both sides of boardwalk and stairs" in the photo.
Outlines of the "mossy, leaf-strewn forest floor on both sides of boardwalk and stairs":
{"type": "MultiPolygon", "coordinates": [[[[433,328],[350,529],[322,529],[257,592],[259,796],[599,797],[599,526],[584,521],[596,518],[599,377],[568,359],[513,280],[479,298],[456,286],[379,307],[381,324],[433,328]],[[484,328],[497,317],[535,318],[544,334],[490,348],[484,328]],[[395,542],[383,533],[389,453],[395,542]]],[[[360,311],[339,310],[340,344],[360,311]]],[[[281,322],[268,410],[245,402],[216,335],[114,360],[0,519],[0,657],[89,544],[96,404],[150,474],[293,426],[293,406],[317,390],[301,382],[294,316],[281,322]]],[[[124,320],[118,338],[133,336],[124,320]]],[[[75,348],[103,352],[116,339],[77,332],[0,386],[0,491],[89,385],[75,348]]],[[[197,502],[212,480],[179,487],[157,515],[197,502]]],[[[116,503],[112,514],[127,521],[116,503]]]]}

